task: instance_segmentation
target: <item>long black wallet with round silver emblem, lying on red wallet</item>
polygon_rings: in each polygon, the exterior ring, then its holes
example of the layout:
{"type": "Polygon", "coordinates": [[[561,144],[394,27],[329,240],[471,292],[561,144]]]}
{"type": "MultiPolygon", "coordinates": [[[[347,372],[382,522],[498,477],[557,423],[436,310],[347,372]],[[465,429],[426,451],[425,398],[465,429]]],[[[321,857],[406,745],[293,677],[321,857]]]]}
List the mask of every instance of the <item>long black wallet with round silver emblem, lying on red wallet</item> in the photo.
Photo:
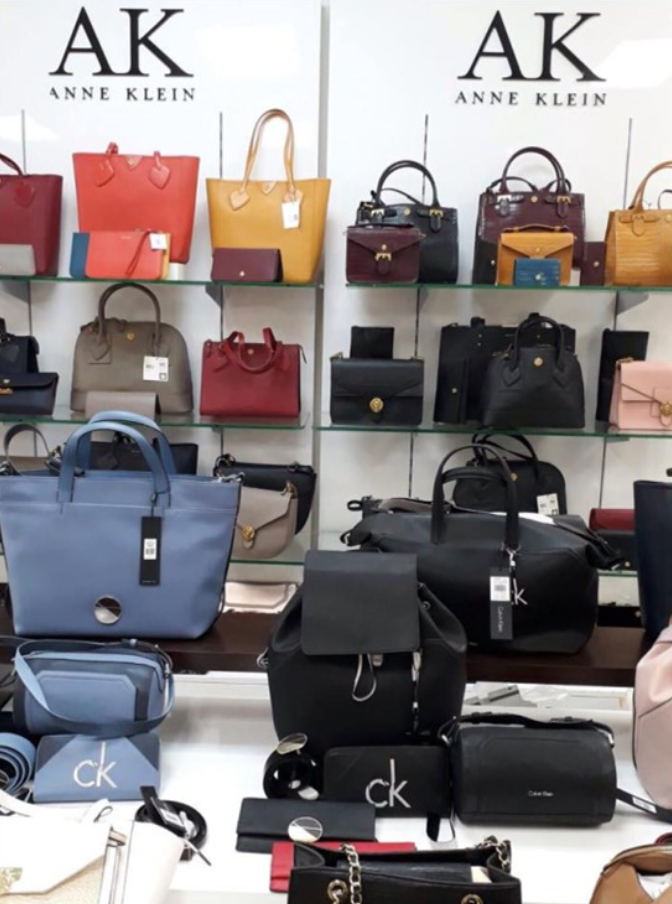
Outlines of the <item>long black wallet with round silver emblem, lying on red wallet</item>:
{"type": "Polygon", "coordinates": [[[236,850],[270,854],[276,841],[289,840],[290,824],[302,818],[317,825],[321,834],[316,841],[376,840],[376,810],[371,804],[247,797],[238,817],[236,850]]]}

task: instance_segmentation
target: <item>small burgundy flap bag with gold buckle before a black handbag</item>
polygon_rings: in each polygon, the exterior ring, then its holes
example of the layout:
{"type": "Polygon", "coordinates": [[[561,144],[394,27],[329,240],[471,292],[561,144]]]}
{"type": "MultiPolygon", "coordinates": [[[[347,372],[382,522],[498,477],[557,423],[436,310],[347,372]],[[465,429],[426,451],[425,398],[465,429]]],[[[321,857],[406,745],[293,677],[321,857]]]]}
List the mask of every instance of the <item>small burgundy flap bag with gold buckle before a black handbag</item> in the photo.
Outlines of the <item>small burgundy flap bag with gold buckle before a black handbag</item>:
{"type": "Polygon", "coordinates": [[[416,283],[422,233],[415,226],[348,226],[345,276],[351,283],[416,283]]]}

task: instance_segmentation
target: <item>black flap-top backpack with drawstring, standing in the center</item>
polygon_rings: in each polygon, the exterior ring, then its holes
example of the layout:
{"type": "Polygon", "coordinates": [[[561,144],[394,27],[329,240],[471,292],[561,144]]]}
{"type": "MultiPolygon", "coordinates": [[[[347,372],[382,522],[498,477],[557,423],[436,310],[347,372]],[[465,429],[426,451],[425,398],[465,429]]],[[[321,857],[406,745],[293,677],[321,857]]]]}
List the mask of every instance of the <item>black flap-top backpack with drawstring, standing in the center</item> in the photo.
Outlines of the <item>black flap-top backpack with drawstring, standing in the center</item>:
{"type": "Polygon", "coordinates": [[[462,707],[466,638],[418,586],[415,556],[313,550],[267,667],[278,737],[301,732],[321,756],[436,736],[462,707]]]}

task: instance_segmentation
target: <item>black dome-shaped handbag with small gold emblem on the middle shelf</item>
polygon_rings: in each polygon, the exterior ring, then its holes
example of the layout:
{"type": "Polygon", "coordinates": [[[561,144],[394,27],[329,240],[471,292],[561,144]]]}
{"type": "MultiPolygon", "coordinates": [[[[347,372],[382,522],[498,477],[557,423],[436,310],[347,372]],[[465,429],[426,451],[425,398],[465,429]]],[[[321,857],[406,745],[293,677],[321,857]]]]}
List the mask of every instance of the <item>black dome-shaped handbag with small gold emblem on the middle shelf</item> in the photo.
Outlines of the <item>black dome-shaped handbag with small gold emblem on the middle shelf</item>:
{"type": "Polygon", "coordinates": [[[565,348],[563,327],[550,317],[523,321],[511,350],[488,365],[481,397],[486,427],[558,427],[585,424],[579,359],[565,348]],[[542,323],[553,329],[553,346],[526,348],[521,337],[542,323]]]}

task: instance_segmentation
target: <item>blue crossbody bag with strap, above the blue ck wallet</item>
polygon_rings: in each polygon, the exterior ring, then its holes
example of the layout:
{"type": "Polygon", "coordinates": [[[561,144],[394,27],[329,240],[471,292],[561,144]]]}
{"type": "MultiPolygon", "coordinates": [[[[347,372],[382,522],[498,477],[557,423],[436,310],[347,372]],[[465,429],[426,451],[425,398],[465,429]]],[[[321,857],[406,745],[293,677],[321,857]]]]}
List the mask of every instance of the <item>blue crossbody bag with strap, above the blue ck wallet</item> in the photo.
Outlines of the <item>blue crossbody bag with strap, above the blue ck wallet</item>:
{"type": "Polygon", "coordinates": [[[157,728],[175,702],[173,664],[139,641],[17,640],[13,715],[31,735],[132,737],[157,728]]]}

